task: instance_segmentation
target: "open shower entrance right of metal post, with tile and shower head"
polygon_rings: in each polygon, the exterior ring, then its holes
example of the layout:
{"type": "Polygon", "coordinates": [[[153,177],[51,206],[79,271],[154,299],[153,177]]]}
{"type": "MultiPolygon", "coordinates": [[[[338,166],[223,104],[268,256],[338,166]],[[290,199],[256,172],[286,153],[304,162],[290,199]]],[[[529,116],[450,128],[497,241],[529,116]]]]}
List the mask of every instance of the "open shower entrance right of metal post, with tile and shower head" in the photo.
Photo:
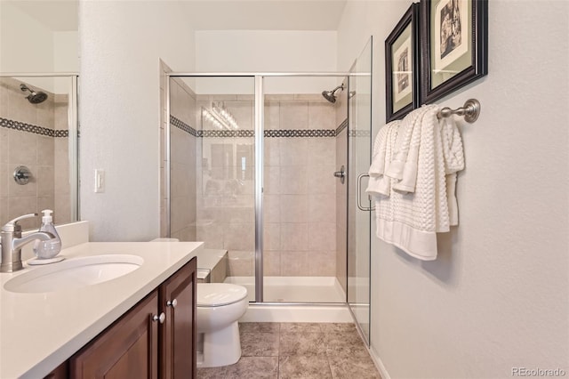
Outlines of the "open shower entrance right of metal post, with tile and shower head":
{"type": "Polygon", "coordinates": [[[333,173],[347,85],[326,73],[263,77],[263,302],[346,301],[333,173]]]}

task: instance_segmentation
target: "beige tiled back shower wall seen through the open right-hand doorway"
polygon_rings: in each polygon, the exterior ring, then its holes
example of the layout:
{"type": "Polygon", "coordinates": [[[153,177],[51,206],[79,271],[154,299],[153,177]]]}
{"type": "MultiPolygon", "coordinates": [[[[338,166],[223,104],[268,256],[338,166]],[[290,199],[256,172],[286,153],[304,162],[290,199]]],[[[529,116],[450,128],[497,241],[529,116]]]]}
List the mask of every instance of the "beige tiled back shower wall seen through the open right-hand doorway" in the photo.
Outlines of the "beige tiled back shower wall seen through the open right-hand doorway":
{"type": "Polygon", "coordinates": [[[267,96],[264,274],[336,274],[335,112],[320,94],[267,96]],[[271,131],[293,131],[270,133],[271,131]]]}

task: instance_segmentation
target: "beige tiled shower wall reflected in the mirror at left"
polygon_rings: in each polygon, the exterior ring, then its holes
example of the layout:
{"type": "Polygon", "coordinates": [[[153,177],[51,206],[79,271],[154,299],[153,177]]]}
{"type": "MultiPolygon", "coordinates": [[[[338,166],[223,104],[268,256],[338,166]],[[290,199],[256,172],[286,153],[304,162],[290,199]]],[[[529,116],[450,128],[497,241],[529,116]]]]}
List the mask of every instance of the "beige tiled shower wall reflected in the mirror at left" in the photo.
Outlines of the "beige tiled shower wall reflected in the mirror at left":
{"type": "MultiPolygon", "coordinates": [[[[54,210],[54,222],[71,221],[68,166],[68,95],[48,93],[31,104],[20,91],[23,82],[0,79],[0,224],[22,214],[54,210]],[[28,166],[33,180],[18,185],[12,177],[28,166]]],[[[20,222],[23,229],[39,227],[38,219],[20,222]]]]}

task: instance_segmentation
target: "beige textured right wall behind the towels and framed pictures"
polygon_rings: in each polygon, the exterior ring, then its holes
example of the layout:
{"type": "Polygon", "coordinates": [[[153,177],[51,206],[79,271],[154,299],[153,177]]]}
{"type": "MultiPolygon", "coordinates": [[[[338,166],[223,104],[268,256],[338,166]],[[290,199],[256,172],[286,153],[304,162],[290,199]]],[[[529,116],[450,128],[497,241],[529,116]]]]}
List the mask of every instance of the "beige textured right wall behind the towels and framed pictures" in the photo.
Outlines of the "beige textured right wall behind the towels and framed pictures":
{"type": "MultiPolygon", "coordinates": [[[[489,75],[440,101],[461,123],[460,225],[435,262],[372,241],[372,351],[383,377],[569,373],[569,3],[489,2],[489,75]]],[[[374,133],[385,119],[384,40],[411,2],[348,2],[339,69],[373,44],[374,133]]]]}

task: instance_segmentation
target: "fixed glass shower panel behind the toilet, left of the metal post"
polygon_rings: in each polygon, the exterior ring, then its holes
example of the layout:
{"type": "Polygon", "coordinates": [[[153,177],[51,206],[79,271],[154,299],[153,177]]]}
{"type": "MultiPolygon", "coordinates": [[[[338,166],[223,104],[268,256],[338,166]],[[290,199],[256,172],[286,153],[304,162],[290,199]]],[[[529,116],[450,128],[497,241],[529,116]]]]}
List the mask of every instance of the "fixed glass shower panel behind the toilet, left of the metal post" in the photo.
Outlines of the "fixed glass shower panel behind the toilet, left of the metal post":
{"type": "Polygon", "coordinates": [[[255,300],[254,77],[170,77],[170,236],[255,300]],[[227,255],[224,252],[227,251],[227,255]],[[222,257],[222,258],[220,258],[222,257]]]}

